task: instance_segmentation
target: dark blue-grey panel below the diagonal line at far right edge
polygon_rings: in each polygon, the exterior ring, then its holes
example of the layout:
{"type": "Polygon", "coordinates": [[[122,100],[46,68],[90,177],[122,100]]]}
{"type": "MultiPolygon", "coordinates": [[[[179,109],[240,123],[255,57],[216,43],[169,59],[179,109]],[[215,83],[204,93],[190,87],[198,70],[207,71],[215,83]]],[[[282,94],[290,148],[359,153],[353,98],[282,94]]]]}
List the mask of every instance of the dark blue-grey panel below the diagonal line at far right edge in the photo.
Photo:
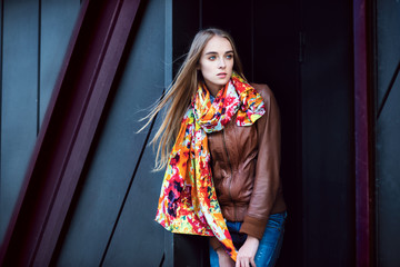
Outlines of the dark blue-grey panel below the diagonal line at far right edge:
{"type": "Polygon", "coordinates": [[[378,261],[400,266],[400,75],[377,123],[378,261]]]}

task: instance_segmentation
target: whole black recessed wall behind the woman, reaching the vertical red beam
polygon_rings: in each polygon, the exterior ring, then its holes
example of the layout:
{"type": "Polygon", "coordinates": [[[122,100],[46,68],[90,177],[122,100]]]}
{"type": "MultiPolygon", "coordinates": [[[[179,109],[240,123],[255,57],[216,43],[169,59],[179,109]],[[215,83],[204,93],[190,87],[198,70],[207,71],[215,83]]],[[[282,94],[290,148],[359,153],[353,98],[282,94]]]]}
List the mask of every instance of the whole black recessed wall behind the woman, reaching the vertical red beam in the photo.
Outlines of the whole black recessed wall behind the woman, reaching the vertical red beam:
{"type": "Polygon", "coordinates": [[[202,0],[188,6],[174,1],[174,58],[187,51],[187,37],[198,29],[226,29],[248,79],[269,85],[280,106],[289,216],[278,265],[353,266],[352,3],[202,0]]]}

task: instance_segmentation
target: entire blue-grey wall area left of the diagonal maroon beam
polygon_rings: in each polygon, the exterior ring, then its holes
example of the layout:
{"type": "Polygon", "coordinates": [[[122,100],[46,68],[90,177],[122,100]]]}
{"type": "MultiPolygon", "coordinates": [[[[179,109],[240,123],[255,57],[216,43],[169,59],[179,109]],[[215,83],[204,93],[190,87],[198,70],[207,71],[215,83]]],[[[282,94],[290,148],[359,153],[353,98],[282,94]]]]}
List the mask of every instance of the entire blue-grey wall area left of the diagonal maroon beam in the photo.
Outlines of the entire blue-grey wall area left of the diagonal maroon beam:
{"type": "Polygon", "coordinates": [[[80,0],[3,0],[1,20],[0,240],[80,9],[80,0]]]}

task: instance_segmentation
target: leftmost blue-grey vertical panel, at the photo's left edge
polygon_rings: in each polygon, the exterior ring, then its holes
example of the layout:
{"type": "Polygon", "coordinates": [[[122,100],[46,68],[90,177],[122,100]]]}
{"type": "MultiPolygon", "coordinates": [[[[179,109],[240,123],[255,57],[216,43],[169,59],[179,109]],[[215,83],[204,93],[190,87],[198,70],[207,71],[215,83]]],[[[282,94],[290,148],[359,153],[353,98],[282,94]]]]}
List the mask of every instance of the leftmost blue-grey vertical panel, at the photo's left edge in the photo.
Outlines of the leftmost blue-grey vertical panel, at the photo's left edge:
{"type": "Polygon", "coordinates": [[[39,0],[3,1],[0,240],[37,136],[39,0]]]}

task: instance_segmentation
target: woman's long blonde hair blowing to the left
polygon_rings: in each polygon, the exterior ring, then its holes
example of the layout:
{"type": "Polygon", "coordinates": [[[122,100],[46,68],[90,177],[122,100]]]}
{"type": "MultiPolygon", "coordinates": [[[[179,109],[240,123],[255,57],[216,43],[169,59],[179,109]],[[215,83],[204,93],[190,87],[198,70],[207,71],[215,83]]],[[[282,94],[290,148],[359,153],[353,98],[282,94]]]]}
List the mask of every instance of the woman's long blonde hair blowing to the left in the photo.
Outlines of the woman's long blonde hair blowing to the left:
{"type": "Polygon", "coordinates": [[[199,80],[202,80],[201,71],[198,69],[201,53],[208,41],[214,36],[223,37],[231,43],[233,49],[233,70],[243,77],[242,66],[233,39],[228,32],[210,28],[201,30],[196,34],[189,52],[171,86],[168,88],[163,98],[157,103],[156,108],[142,119],[148,120],[143,126],[143,128],[146,128],[161,109],[166,106],[168,107],[162,123],[151,140],[151,144],[158,144],[154,170],[163,169],[168,162],[168,155],[178,136],[183,115],[196,93],[199,80]]]}

